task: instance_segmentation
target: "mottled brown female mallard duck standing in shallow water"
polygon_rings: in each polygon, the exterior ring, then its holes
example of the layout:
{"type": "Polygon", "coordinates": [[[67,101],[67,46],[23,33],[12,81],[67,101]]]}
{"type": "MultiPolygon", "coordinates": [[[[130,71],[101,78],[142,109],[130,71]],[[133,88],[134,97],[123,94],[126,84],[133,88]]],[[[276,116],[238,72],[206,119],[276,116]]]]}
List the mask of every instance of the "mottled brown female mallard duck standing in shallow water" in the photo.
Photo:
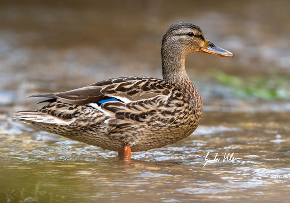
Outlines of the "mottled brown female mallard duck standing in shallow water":
{"type": "Polygon", "coordinates": [[[233,54],[203,37],[188,22],[169,27],[162,41],[163,80],[122,77],[66,92],[37,94],[48,102],[40,110],[19,111],[15,119],[66,138],[117,151],[160,148],[180,141],[197,128],[202,101],[188,77],[184,61],[192,52],[223,57],[233,54]]]}

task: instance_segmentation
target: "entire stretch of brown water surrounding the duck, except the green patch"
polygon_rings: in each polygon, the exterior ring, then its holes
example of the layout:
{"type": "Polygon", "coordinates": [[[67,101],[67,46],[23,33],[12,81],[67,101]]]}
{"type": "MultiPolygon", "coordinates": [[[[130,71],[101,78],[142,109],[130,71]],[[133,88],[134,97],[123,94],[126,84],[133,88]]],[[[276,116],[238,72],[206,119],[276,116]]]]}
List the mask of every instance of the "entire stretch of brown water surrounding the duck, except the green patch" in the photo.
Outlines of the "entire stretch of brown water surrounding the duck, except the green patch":
{"type": "Polygon", "coordinates": [[[241,98],[210,73],[289,75],[289,6],[1,3],[0,202],[288,202],[290,101],[241,98]],[[187,58],[204,102],[202,122],[187,139],[135,152],[123,163],[116,152],[12,120],[12,112],[42,106],[27,98],[34,93],[118,76],[162,77],[161,38],[175,21],[198,24],[209,40],[235,54],[187,58]],[[206,163],[208,152],[207,159],[217,154],[220,160],[206,163]],[[239,159],[224,161],[232,153],[239,159]]]}

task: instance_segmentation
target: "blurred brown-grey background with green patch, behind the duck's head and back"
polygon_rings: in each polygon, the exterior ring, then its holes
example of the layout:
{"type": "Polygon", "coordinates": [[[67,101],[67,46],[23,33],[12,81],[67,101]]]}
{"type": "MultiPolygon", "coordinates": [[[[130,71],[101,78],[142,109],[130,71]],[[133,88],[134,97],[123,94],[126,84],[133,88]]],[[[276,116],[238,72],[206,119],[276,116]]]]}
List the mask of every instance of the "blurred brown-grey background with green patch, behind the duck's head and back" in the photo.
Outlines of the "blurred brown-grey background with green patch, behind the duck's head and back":
{"type": "Polygon", "coordinates": [[[289,7],[288,1],[2,1],[0,104],[34,103],[25,96],[112,77],[162,78],[161,40],[178,21],[199,25],[235,56],[187,58],[205,103],[288,99],[289,7]]]}

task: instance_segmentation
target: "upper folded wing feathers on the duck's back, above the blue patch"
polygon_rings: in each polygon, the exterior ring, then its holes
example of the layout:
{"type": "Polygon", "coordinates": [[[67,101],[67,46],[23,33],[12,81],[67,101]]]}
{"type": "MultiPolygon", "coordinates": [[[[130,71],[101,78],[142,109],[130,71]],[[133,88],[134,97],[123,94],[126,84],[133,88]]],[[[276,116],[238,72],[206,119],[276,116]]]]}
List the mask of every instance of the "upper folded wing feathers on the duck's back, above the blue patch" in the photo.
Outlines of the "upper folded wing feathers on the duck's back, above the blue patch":
{"type": "Polygon", "coordinates": [[[30,97],[48,97],[66,104],[88,105],[111,97],[120,100],[123,98],[123,101],[148,99],[160,94],[168,95],[172,89],[174,89],[173,85],[157,78],[122,77],[104,80],[70,91],[36,94],[30,97]]]}

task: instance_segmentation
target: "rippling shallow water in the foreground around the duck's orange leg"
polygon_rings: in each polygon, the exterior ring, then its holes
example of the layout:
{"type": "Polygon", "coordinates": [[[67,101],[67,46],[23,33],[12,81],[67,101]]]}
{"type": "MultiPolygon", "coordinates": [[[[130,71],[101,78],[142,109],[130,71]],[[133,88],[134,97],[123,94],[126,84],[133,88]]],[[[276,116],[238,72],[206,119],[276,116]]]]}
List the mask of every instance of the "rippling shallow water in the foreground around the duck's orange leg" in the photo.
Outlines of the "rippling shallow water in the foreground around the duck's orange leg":
{"type": "Polygon", "coordinates": [[[24,190],[25,198],[51,202],[243,202],[249,198],[286,202],[290,118],[281,121],[283,116],[205,112],[203,124],[190,137],[161,149],[133,153],[130,163],[119,161],[116,152],[51,136],[8,119],[8,126],[2,124],[0,143],[1,189],[8,199],[19,198],[24,190]],[[260,122],[268,116],[271,120],[260,122]],[[208,159],[218,153],[220,160],[206,163],[208,152],[208,159]],[[241,159],[224,161],[225,153],[241,159]]]}

